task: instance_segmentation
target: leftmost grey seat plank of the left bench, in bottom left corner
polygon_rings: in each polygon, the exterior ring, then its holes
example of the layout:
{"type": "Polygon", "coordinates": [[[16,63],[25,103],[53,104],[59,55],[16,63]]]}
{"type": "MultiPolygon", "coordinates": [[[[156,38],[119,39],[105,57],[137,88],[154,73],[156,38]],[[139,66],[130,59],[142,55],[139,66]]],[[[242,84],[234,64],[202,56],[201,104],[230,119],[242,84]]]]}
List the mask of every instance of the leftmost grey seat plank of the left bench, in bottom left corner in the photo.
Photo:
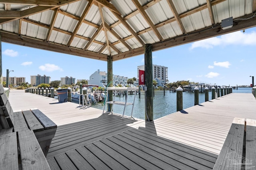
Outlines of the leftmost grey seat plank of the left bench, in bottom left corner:
{"type": "Polygon", "coordinates": [[[16,133],[0,135],[0,169],[19,169],[16,133]]]}

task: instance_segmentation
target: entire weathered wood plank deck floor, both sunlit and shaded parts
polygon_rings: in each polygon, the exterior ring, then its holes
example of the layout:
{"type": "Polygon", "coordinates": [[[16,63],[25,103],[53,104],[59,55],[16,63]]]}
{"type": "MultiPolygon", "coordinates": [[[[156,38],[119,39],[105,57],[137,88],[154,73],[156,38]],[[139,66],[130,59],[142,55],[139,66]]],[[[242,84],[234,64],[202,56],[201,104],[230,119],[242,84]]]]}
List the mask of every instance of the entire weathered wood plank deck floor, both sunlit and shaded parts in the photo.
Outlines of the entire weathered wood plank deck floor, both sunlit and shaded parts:
{"type": "Polygon", "coordinates": [[[212,169],[234,117],[256,119],[254,96],[239,93],[149,123],[30,93],[11,91],[10,103],[36,107],[58,125],[52,169],[212,169]]]}

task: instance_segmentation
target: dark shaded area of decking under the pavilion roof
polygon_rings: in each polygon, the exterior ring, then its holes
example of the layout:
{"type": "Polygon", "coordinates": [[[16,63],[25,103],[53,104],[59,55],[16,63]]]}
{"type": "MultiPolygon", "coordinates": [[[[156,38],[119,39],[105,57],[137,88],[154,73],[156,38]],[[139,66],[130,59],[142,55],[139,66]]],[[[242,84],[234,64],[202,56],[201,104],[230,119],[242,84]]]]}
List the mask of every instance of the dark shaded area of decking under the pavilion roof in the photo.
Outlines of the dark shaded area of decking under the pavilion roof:
{"type": "Polygon", "coordinates": [[[212,169],[218,157],[157,135],[154,121],[104,114],[59,126],[48,153],[55,169],[212,169]],[[136,128],[137,127],[137,128],[136,128]]]}

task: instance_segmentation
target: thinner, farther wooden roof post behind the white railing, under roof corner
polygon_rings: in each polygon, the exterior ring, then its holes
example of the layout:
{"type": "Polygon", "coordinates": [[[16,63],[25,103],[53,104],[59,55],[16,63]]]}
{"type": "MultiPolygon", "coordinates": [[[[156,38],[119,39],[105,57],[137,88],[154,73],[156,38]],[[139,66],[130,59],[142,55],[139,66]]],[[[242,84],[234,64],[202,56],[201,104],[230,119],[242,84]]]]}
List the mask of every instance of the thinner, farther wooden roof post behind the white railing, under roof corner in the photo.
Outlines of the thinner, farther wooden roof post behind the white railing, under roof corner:
{"type": "MultiPolygon", "coordinates": [[[[113,87],[113,59],[111,56],[108,56],[107,64],[108,64],[107,84],[108,84],[108,87],[113,87]]],[[[111,90],[108,91],[108,99],[105,99],[105,100],[113,101],[113,91],[111,90]]],[[[112,104],[108,104],[108,111],[111,111],[111,109],[112,109],[112,104]]]]}

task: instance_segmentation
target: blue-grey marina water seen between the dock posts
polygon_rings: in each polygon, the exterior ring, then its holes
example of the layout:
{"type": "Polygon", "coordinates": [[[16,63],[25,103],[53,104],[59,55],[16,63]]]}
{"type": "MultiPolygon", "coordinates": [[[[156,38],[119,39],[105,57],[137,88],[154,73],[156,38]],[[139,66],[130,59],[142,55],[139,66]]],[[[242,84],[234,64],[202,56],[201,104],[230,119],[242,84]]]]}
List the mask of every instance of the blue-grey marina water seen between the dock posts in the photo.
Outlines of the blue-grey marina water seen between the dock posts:
{"type": "MultiPolygon", "coordinates": [[[[238,88],[233,89],[233,93],[251,93],[252,88],[238,88]]],[[[176,112],[176,92],[169,92],[168,90],[155,90],[155,96],[153,99],[153,112],[154,119],[158,119],[165,115],[169,115],[171,113],[176,112]]],[[[183,92],[183,109],[194,106],[194,93],[183,92]]],[[[217,97],[217,94],[216,94],[217,97]]],[[[114,98],[114,96],[113,96],[114,98]]],[[[212,92],[209,92],[209,100],[212,99],[212,92]]],[[[125,102],[124,96],[116,96],[116,101],[125,102]]],[[[132,103],[134,100],[134,94],[128,94],[127,102],[132,103]]],[[[205,101],[205,94],[199,93],[199,104],[205,101]]],[[[98,102],[93,104],[92,107],[103,109],[103,102],[98,102]]],[[[107,110],[107,105],[105,107],[105,111],[107,110]]],[[[123,114],[124,106],[113,105],[113,112],[123,114]]],[[[124,115],[130,116],[132,111],[132,106],[126,106],[124,115]]],[[[135,96],[134,109],[132,113],[133,117],[145,119],[145,96],[144,93],[141,93],[139,98],[139,94],[137,93],[135,96]]]]}

